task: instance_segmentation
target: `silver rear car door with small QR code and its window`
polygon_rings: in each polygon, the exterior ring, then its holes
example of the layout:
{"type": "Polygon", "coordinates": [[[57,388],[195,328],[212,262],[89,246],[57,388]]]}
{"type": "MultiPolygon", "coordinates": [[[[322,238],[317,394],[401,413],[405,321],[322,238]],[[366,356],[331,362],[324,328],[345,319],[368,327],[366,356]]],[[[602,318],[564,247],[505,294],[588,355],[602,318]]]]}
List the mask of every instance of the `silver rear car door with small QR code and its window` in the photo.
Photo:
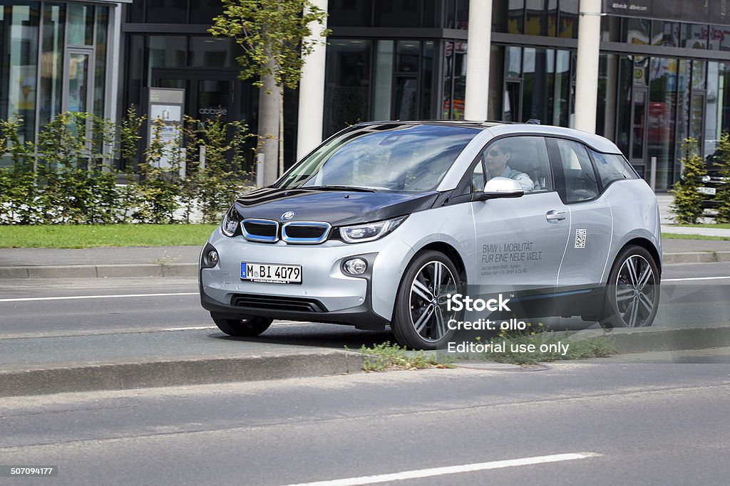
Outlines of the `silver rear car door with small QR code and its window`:
{"type": "Polygon", "coordinates": [[[548,138],[548,149],[563,211],[570,214],[558,291],[591,289],[599,286],[610,270],[611,209],[599,192],[599,179],[583,144],[548,138]]]}

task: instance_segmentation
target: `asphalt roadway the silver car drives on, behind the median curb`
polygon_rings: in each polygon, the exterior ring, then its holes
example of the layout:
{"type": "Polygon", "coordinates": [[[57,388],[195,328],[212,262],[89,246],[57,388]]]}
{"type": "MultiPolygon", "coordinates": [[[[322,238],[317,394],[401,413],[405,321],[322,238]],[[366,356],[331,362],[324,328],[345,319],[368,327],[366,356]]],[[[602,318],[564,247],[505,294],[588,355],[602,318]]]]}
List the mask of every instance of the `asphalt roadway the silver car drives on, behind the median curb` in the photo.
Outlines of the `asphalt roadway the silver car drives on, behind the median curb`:
{"type": "MultiPolygon", "coordinates": [[[[655,326],[703,326],[730,319],[730,262],[667,265],[655,326]],[[718,278],[728,277],[728,278],[718,278]],[[677,279],[709,278],[707,280],[677,279]]],[[[158,332],[209,328],[210,315],[200,306],[194,278],[108,278],[91,280],[0,282],[0,338],[158,332]],[[144,294],[144,295],[140,295],[144,294]],[[107,296],[107,297],[99,297],[107,296]],[[134,297],[123,297],[134,296],[134,297]],[[55,297],[92,297],[47,299],[55,297]]],[[[551,329],[597,326],[580,319],[548,318],[551,329]]],[[[392,339],[388,333],[362,332],[331,324],[285,324],[261,339],[299,341],[359,348],[369,341],[392,339]],[[362,340],[360,342],[359,340],[362,340]],[[359,344],[358,344],[359,342],[359,344]]],[[[293,342],[291,342],[293,341],[293,342]]]]}

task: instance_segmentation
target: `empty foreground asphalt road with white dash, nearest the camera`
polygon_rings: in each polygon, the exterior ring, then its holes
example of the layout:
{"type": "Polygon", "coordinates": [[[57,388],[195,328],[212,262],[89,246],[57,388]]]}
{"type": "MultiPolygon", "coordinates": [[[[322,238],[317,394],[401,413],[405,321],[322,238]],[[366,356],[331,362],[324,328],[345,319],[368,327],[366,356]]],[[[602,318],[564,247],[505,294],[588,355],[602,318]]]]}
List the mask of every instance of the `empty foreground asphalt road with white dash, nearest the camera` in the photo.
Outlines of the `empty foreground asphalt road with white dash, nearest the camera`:
{"type": "Polygon", "coordinates": [[[730,365],[557,364],[0,399],[0,463],[53,485],[721,485],[729,392],[730,365]]]}

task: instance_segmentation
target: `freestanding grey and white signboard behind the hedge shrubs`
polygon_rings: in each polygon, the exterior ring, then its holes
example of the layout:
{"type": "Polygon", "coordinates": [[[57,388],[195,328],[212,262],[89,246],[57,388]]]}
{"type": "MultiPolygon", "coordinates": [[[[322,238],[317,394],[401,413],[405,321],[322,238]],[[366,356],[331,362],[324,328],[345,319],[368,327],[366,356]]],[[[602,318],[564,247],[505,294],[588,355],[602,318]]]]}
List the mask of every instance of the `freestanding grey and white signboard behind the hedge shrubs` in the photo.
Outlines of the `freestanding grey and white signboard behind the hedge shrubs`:
{"type": "Polygon", "coordinates": [[[170,160],[175,152],[182,149],[183,138],[180,128],[183,126],[183,106],[185,105],[185,90],[166,87],[150,87],[149,106],[147,113],[150,121],[147,123],[147,144],[154,137],[155,120],[162,122],[159,138],[165,144],[160,157],[159,167],[169,168],[170,160]]]}

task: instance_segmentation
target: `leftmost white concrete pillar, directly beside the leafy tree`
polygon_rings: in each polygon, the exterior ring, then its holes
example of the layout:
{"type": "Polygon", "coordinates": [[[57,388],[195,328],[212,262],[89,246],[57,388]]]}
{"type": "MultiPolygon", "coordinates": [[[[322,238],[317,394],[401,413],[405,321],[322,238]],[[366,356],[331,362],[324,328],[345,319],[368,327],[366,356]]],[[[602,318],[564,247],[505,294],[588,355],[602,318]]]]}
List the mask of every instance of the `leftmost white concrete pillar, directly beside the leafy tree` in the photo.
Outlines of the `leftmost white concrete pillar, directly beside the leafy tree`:
{"type": "MultiPolygon", "coordinates": [[[[327,0],[312,0],[315,7],[327,11],[327,0]]],[[[308,40],[318,41],[314,51],[307,56],[301,68],[299,83],[299,124],[296,136],[296,160],[301,160],[322,141],[324,118],[324,73],[326,64],[326,38],[320,31],[326,25],[310,23],[312,36],[308,40]]]]}

